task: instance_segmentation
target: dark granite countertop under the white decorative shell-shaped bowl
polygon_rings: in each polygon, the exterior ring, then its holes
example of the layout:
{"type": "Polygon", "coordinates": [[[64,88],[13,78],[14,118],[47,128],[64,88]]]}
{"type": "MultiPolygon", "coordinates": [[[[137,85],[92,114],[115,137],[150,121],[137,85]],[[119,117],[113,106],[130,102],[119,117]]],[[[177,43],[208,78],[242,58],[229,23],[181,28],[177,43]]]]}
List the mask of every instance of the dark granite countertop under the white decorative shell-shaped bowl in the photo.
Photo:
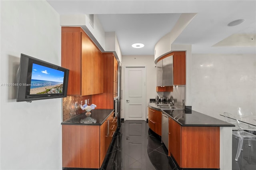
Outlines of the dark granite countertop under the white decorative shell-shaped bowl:
{"type": "Polygon", "coordinates": [[[112,113],[114,109],[94,109],[90,111],[92,115],[90,117],[96,119],[96,123],[80,123],[81,119],[86,118],[86,111],[77,115],[76,117],[71,118],[68,121],[62,122],[62,125],[102,125],[104,121],[108,118],[110,113],[112,113]]]}

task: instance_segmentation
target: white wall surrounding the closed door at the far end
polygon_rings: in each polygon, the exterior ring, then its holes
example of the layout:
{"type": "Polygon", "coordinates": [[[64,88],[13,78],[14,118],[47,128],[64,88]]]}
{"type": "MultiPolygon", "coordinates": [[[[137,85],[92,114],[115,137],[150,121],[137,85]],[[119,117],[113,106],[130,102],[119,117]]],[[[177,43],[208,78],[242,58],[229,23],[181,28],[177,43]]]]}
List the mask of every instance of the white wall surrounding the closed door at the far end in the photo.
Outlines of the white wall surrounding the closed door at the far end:
{"type": "MultiPolygon", "coordinates": [[[[124,97],[124,67],[125,66],[146,66],[146,106],[149,99],[155,99],[156,93],[156,67],[154,63],[154,55],[122,55],[122,96],[124,97]]],[[[121,118],[124,118],[124,102],[122,99],[121,118]]],[[[148,111],[148,110],[147,110],[148,111]]],[[[147,113],[148,115],[148,113],[147,113]]],[[[148,118],[148,117],[147,117],[148,118]]]]}

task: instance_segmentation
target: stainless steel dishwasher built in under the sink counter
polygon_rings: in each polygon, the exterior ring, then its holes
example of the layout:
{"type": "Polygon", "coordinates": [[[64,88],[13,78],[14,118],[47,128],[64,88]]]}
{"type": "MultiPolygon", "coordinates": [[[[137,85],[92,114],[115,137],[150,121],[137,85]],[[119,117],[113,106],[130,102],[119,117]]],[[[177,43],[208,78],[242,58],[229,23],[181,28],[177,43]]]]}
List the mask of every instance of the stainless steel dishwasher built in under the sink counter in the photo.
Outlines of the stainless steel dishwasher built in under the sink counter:
{"type": "Polygon", "coordinates": [[[169,119],[168,119],[168,116],[162,112],[162,142],[164,143],[166,148],[169,150],[168,138],[169,138],[169,119]]]}

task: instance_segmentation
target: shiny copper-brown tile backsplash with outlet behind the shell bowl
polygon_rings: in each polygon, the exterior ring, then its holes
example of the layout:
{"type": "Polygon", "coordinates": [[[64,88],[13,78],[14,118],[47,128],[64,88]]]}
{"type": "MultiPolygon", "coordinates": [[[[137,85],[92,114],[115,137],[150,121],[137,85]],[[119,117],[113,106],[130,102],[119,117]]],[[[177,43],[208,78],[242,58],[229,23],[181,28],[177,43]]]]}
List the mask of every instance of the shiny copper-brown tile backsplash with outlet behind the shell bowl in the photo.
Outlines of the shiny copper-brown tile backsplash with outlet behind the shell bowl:
{"type": "Polygon", "coordinates": [[[84,111],[80,108],[80,103],[84,100],[90,100],[90,104],[92,104],[92,96],[67,96],[65,98],[62,98],[62,119],[63,122],[71,119],[72,117],[75,117],[76,115],[79,115],[81,113],[84,113],[84,111]],[[78,107],[75,107],[75,102],[78,102],[78,107]]]}

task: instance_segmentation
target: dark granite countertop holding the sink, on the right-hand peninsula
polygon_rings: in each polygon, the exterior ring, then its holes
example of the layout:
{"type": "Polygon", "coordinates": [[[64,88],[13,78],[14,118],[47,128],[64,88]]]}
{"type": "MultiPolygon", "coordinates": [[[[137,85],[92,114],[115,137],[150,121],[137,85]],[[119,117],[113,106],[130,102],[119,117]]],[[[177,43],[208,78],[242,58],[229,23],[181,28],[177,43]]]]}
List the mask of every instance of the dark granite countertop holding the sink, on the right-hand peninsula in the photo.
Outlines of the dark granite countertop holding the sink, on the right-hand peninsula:
{"type": "Polygon", "coordinates": [[[158,111],[166,113],[166,115],[172,118],[181,126],[196,126],[196,127],[234,127],[233,124],[227,123],[220,119],[204,115],[193,110],[184,110],[184,109],[175,109],[175,110],[166,110],[159,109],[154,103],[148,103],[148,107],[158,111]]]}

